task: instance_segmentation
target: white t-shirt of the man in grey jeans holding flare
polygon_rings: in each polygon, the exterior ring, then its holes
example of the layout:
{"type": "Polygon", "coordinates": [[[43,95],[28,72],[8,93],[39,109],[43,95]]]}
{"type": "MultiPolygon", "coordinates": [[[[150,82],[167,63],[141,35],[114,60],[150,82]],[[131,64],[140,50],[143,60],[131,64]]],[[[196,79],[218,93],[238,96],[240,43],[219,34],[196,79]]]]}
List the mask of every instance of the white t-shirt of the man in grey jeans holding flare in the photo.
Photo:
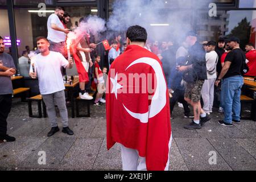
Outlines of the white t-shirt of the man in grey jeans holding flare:
{"type": "MultiPolygon", "coordinates": [[[[41,53],[32,57],[31,63],[35,64],[41,94],[51,94],[65,89],[61,67],[66,68],[68,61],[59,52],[50,51],[47,56],[41,53]]],[[[30,64],[32,72],[32,64],[30,64]]]]}

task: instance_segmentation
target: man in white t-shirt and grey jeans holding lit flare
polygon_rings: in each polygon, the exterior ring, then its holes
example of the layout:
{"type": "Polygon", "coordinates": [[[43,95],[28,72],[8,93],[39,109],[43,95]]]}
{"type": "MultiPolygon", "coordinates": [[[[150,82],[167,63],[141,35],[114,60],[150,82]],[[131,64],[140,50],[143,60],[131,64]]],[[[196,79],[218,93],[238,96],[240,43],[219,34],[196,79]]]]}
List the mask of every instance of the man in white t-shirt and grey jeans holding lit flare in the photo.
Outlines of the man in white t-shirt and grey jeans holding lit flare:
{"type": "Polygon", "coordinates": [[[36,38],[36,44],[40,53],[31,60],[30,76],[36,78],[38,75],[40,93],[46,104],[49,121],[52,127],[47,136],[51,137],[60,130],[57,126],[54,100],[60,111],[60,117],[63,123],[62,132],[73,135],[73,131],[68,127],[68,111],[64,92],[65,86],[60,71],[61,67],[71,69],[73,67],[73,59],[71,58],[67,61],[61,53],[49,51],[50,44],[43,36],[36,38]]]}

